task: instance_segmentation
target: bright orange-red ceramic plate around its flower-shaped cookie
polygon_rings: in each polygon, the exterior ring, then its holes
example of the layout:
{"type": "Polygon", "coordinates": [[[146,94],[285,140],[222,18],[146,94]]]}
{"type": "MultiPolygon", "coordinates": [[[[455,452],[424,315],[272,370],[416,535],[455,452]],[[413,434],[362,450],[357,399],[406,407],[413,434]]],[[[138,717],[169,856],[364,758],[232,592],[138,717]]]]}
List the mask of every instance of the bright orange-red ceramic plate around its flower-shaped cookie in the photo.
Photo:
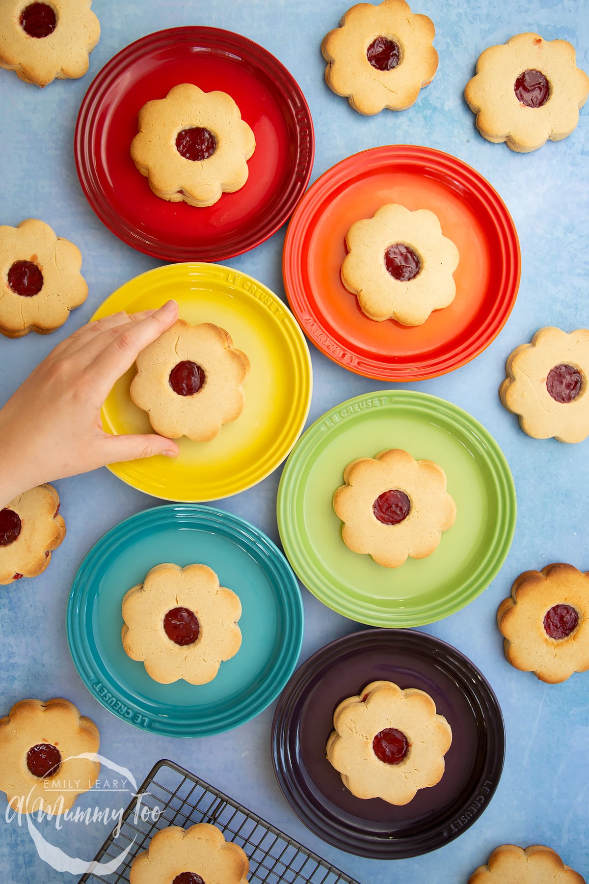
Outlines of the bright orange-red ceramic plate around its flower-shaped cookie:
{"type": "Polygon", "coordinates": [[[501,331],[516,300],[515,225],[478,171],[439,150],[389,145],[349,156],[317,179],[284,242],[284,287],[306,336],[365,377],[416,381],[469,362],[501,331]],[[340,279],[345,234],[386,202],[429,209],[460,253],[456,298],[413,328],[368,319],[340,279]]]}

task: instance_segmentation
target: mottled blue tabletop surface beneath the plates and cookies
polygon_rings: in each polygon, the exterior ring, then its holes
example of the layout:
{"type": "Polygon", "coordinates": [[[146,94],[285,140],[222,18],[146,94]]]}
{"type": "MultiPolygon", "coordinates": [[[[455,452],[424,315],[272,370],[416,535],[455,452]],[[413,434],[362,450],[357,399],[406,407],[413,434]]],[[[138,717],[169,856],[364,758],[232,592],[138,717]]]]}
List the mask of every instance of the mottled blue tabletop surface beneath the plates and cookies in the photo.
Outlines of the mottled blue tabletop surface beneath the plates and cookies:
{"type": "MultiPolygon", "coordinates": [[[[272,773],[269,730],[272,707],[229,733],[170,741],[142,733],[111,715],[88,693],[72,664],[64,628],[72,577],[87,550],[113,525],[157,501],[121,483],[106,469],[57,483],[68,533],[48,570],[0,593],[0,713],[23,697],[65,696],[100,728],[102,752],[132,770],[139,782],[158,758],[170,756],[202,778],[249,805],[285,832],[351,874],[360,884],[450,884],[465,881],[498,844],[547,843],[578,872],[589,872],[589,755],[586,751],[589,674],[560,685],[539,682],[511,668],[502,654],[495,613],[515,577],[528,568],[568,561],[589,568],[586,499],[589,441],[566,446],[536,441],[519,429],[501,406],[497,388],[504,362],[518,344],[543,325],[571,331],[587,324],[586,219],[589,210],[589,106],[565,141],[517,155],[484,141],[464,103],[464,86],[480,52],[512,34],[532,30],[563,38],[577,49],[578,65],[589,70],[589,12],[581,0],[554,4],[521,0],[491,6],[481,0],[422,0],[413,11],[435,23],[440,66],[433,83],[403,113],[365,118],[334,95],[323,80],[321,39],[336,27],[348,4],[340,0],[94,0],[102,37],[82,80],[56,81],[44,90],[0,71],[3,144],[0,152],[0,220],[17,225],[40,217],[83,255],[89,284],[86,303],[49,337],[31,334],[0,340],[6,398],[57,342],[85,322],[125,280],[158,265],[132,251],[94,216],[79,187],[72,141],[79,103],[94,74],[112,55],[143,34],[163,27],[208,25],[234,30],[260,42],[286,65],[306,95],[316,136],[313,178],[345,156],[388,143],[442,149],[471,164],[501,194],[514,218],[522,250],[522,278],[508,323],[474,362],[446,377],[406,385],[455,402],[474,415],[502,447],[517,488],[517,528],[510,554],[495,581],[444,621],[423,628],[455,645],[480,667],[493,686],[505,717],[507,750],[499,788],[476,823],[456,841],[423,857],[388,864],[353,857],[321,842],[283,800],[272,773]]],[[[284,228],[233,267],[261,279],[284,297],[281,254],[284,228]]],[[[312,348],[314,392],[308,423],[328,408],[381,382],[357,377],[312,348]]],[[[404,385],[401,385],[403,387],[404,385]]],[[[64,444],[66,439],[64,438],[64,444]]],[[[218,506],[241,515],[277,541],[275,500],[280,470],[262,484],[218,506]]],[[[358,629],[304,592],[305,658],[328,640],[358,629]]],[[[110,806],[128,796],[106,796],[110,806]]],[[[88,806],[86,803],[83,806],[88,806]]],[[[4,814],[4,797],[0,814],[4,814]]],[[[91,826],[65,824],[48,840],[79,857],[91,857],[107,834],[91,826]]],[[[57,884],[57,873],[37,856],[26,827],[0,819],[0,877],[8,882],[57,884]]]]}

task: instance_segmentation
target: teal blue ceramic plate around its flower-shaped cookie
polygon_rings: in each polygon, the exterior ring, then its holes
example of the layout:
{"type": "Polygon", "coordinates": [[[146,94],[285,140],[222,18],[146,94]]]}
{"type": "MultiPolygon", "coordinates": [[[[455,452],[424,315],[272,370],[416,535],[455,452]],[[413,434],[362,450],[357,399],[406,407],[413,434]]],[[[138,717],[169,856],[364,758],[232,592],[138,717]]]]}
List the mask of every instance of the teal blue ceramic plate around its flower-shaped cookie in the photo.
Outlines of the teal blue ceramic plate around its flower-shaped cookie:
{"type": "Polygon", "coordinates": [[[303,605],[288,562],[261,530],[213,507],[170,504],[132,515],[92,547],[72,582],[66,627],[82,681],[111,713],[155,734],[209,736],[278,696],[300,652],[303,605]],[[241,599],[241,647],[208,684],[159,684],[123,649],[123,596],[164,561],[208,565],[241,599]]]}

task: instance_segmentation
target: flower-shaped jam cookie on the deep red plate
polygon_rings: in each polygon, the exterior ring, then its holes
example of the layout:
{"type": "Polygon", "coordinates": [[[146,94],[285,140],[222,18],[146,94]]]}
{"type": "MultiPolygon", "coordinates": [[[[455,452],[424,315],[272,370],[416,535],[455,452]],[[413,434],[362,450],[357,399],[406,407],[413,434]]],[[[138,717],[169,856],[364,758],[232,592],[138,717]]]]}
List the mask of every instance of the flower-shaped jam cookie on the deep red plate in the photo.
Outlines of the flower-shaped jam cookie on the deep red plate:
{"type": "Polygon", "coordinates": [[[139,129],[133,162],[163,200],[212,206],[245,185],[255,138],[225,92],[181,83],[143,105],[139,129]]]}

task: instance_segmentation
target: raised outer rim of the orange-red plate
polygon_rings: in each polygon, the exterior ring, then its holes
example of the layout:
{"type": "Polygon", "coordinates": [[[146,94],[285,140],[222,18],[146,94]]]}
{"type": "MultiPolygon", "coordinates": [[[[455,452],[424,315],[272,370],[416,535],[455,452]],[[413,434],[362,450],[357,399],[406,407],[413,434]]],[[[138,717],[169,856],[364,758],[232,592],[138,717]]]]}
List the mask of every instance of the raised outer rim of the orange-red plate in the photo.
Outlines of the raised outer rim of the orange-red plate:
{"type": "MultiPolygon", "coordinates": [[[[423,159],[422,162],[425,163],[425,159],[423,159]]],[[[457,172],[455,168],[455,178],[456,175],[457,172]]],[[[462,184],[464,187],[464,181],[462,184]]],[[[300,235],[302,235],[302,232],[300,235]]],[[[306,337],[322,354],[327,356],[332,362],[336,362],[336,365],[340,365],[344,369],[350,370],[361,377],[368,377],[373,380],[401,383],[407,381],[428,380],[432,377],[440,377],[441,375],[449,373],[449,371],[456,370],[467,362],[472,362],[476,356],[489,347],[509,319],[510,313],[515,306],[517,299],[520,278],[521,249],[519,246],[517,228],[511,217],[510,210],[502,200],[502,197],[495,190],[495,187],[491,185],[480,171],[477,171],[473,166],[465,163],[464,160],[459,157],[453,156],[446,151],[429,148],[423,145],[382,145],[360,150],[358,153],[351,154],[350,156],[346,156],[344,159],[339,160],[336,164],[333,164],[329,169],[324,171],[313,181],[311,186],[308,187],[305,194],[303,194],[299,200],[297,208],[291,215],[284,237],[284,291],[286,292],[291,310],[296,317],[298,324],[300,324],[303,331],[305,331],[306,337]],[[353,170],[356,167],[356,164],[359,164],[362,161],[370,162],[376,158],[375,164],[378,164],[376,161],[379,160],[381,156],[391,156],[391,162],[411,162],[412,164],[415,164],[417,162],[417,157],[421,156],[424,158],[427,157],[430,164],[435,162],[440,168],[444,165],[448,167],[448,169],[452,165],[458,167],[464,179],[471,179],[473,182],[476,181],[477,186],[480,188],[475,191],[471,187],[471,192],[476,193],[479,199],[481,194],[486,194],[487,199],[490,201],[489,204],[493,206],[495,214],[498,213],[502,218],[503,226],[501,228],[497,226],[497,231],[501,234],[503,249],[507,250],[507,246],[509,246],[510,254],[514,259],[514,263],[510,263],[509,261],[504,261],[503,263],[502,270],[504,280],[502,285],[502,297],[501,299],[497,298],[497,303],[499,304],[499,307],[502,308],[503,312],[499,316],[499,320],[496,324],[492,324],[489,321],[487,321],[486,324],[483,324],[483,329],[485,325],[492,325],[491,336],[488,339],[483,339],[483,342],[480,343],[481,331],[479,331],[477,338],[475,339],[479,341],[479,343],[475,346],[472,343],[472,339],[469,339],[468,346],[465,345],[460,349],[459,352],[461,352],[462,355],[457,359],[452,358],[452,354],[456,352],[453,350],[450,351],[449,354],[444,354],[443,357],[432,358],[430,360],[415,359],[413,357],[410,364],[399,369],[394,362],[385,363],[380,362],[375,357],[357,355],[350,351],[350,347],[341,347],[340,342],[333,339],[331,332],[329,331],[329,324],[325,321],[325,314],[317,316],[313,312],[313,315],[311,315],[311,311],[307,308],[305,286],[303,286],[298,279],[298,273],[296,271],[297,258],[300,255],[301,249],[295,249],[292,243],[292,240],[298,234],[298,227],[301,229],[308,229],[311,224],[311,217],[318,205],[322,202],[321,194],[323,194],[324,190],[326,190],[329,185],[332,187],[335,185],[336,182],[334,179],[337,179],[338,176],[339,179],[345,179],[346,173],[353,170]],[[297,279],[296,284],[294,283],[295,279],[297,279]],[[314,326],[313,330],[309,329],[310,323],[314,326]]],[[[497,310],[495,310],[495,313],[496,312],[497,310]]],[[[489,316],[491,317],[491,315],[489,316]]]]}

